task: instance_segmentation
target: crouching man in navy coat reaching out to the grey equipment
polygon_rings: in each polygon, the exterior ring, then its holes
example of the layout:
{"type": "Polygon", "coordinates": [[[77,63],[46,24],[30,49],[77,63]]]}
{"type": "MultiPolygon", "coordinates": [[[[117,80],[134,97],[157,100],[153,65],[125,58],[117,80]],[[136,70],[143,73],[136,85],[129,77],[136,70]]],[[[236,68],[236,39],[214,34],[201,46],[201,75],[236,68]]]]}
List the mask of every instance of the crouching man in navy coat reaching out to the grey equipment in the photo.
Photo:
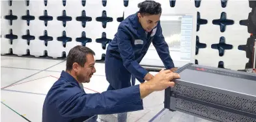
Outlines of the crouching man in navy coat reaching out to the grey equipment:
{"type": "Polygon", "coordinates": [[[102,93],[85,93],[82,83],[90,82],[94,67],[94,51],[78,45],[66,59],[66,71],[53,84],[46,95],[42,110],[42,122],[80,122],[99,114],[117,114],[143,110],[141,99],[152,92],[173,87],[177,73],[162,70],[143,84],[102,93]]]}

